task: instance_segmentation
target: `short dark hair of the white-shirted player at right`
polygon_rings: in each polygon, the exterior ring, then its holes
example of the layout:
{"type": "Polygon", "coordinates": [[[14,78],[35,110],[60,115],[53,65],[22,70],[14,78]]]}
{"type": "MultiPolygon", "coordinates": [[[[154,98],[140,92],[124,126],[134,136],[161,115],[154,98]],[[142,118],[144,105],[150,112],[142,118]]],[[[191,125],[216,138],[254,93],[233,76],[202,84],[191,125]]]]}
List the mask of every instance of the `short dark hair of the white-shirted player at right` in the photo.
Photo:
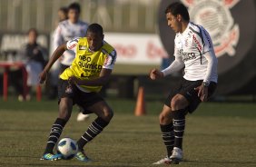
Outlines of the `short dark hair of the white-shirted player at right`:
{"type": "Polygon", "coordinates": [[[182,18],[185,21],[190,21],[190,15],[188,12],[188,9],[185,5],[182,3],[172,3],[171,5],[168,5],[165,9],[165,14],[171,13],[174,16],[182,15],[182,18]]]}

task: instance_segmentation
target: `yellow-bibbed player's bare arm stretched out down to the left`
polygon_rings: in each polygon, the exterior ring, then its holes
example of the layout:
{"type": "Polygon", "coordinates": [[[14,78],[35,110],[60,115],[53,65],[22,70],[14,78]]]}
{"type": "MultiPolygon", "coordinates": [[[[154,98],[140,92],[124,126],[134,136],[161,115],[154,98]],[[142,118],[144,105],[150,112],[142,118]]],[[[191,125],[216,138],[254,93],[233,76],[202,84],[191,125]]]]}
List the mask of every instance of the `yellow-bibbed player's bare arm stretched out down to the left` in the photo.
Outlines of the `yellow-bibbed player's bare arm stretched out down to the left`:
{"type": "Polygon", "coordinates": [[[57,49],[54,51],[54,54],[51,56],[49,62],[45,65],[44,70],[42,73],[39,74],[39,83],[44,83],[49,70],[51,69],[52,65],[60,58],[64,51],[66,50],[66,44],[61,44],[57,49]]]}

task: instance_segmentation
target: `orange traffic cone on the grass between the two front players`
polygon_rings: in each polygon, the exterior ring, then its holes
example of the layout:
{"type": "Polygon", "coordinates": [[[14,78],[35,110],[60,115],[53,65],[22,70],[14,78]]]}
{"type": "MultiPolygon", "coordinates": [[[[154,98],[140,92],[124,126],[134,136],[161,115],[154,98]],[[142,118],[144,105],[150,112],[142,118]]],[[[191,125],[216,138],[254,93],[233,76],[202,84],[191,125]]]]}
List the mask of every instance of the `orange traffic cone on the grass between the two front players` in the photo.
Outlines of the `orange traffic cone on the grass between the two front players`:
{"type": "Polygon", "coordinates": [[[137,103],[134,111],[136,116],[142,116],[146,114],[145,99],[144,99],[144,88],[139,87],[137,103]]]}

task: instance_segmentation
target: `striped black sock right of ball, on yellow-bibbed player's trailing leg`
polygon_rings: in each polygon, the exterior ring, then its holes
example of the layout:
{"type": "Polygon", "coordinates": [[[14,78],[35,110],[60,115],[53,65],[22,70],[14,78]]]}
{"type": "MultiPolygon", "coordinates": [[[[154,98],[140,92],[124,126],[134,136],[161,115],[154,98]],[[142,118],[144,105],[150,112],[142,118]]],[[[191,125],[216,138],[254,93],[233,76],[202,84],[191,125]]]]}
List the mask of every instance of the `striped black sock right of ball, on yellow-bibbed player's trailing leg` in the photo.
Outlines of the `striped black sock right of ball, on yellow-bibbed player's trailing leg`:
{"type": "Polygon", "coordinates": [[[103,131],[103,128],[108,125],[102,118],[97,117],[93,123],[90,124],[87,131],[81,136],[81,138],[77,141],[78,148],[83,150],[84,145],[87,142],[90,142],[103,131]]]}

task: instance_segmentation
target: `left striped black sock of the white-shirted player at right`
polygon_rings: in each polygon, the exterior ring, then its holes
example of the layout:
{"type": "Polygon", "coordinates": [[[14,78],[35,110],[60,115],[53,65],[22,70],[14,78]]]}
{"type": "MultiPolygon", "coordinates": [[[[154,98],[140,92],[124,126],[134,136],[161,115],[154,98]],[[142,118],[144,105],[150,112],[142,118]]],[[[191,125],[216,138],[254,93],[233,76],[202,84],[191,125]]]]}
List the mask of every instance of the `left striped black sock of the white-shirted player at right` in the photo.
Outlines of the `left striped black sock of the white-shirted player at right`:
{"type": "Polygon", "coordinates": [[[173,126],[172,123],[163,125],[160,124],[160,128],[162,131],[162,141],[167,150],[168,157],[172,155],[172,149],[174,144],[174,133],[173,133],[173,126]]]}

